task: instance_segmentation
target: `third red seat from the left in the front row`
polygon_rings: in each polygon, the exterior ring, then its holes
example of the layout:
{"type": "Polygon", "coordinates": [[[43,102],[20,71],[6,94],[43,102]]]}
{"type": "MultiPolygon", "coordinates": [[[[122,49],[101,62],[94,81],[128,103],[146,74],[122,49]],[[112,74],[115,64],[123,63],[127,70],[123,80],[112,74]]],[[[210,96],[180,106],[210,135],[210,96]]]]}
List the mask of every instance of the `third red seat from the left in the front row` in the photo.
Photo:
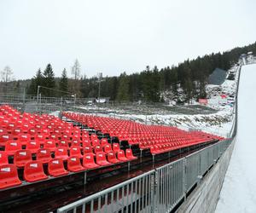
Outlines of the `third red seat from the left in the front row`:
{"type": "Polygon", "coordinates": [[[48,172],[50,176],[65,176],[68,174],[68,171],[64,168],[63,160],[61,158],[54,158],[49,161],[48,172]]]}

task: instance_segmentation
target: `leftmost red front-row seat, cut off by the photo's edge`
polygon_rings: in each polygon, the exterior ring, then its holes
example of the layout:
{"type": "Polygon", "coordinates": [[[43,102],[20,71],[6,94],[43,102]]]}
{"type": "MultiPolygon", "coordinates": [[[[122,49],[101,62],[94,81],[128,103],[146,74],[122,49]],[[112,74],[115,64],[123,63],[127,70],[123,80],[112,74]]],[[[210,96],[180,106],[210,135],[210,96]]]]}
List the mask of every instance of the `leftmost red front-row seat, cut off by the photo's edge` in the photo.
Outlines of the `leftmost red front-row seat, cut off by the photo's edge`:
{"type": "Polygon", "coordinates": [[[0,165],[0,189],[19,186],[21,181],[15,164],[0,165]]]}

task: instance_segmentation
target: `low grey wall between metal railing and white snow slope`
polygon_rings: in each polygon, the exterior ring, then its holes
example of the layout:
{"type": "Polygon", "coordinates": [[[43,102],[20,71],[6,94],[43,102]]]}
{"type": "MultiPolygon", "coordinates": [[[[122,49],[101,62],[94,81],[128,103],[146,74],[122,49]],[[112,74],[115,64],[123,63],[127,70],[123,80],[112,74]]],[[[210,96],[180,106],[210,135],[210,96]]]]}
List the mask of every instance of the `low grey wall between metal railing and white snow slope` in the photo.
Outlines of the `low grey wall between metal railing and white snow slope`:
{"type": "Polygon", "coordinates": [[[235,146],[236,138],[219,158],[210,172],[205,176],[195,191],[189,195],[187,200],[177,210],[179,213],[214,212],[218,203],[218,197],[222,188],[226,171],[230,164],[230,158],[235,146]]]}

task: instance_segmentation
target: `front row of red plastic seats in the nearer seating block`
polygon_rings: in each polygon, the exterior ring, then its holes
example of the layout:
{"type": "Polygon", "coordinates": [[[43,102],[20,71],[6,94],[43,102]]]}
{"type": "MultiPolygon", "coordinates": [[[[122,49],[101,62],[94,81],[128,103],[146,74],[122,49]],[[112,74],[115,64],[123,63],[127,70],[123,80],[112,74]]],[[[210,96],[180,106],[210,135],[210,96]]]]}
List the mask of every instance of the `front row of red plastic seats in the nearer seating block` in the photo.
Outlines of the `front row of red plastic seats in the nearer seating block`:
{"type": "MultiPolygon", "coordinates": [[[[67,158],[67,170],[64,167],[62,158],[50,158],[47,160],[47,169],[49,176],[66,176],[69,172],[79,172],[84,170],[93,170],[102,166],[109,166],[112,164],[124,163],[135,159],[131,150],[126,150],[126,156],[123,150],[119,151],[117,157],[115,153],[108,153],[108,159],[105,153],[96,153],[96,162],[92,153],[84,154],[83,164],[81,164],[79,157],[73,156],[67,158]]],[[[20,160],[24,164],[23,178],[27,182],[43,181],[49,178],[44,173],[43,164],[44,159],[32,160],[24,158],[20,160]]],[[[18,177],[17,164],[3,164],[0,165],[0,189],[15,187],[22,182],[18,177]]]]}

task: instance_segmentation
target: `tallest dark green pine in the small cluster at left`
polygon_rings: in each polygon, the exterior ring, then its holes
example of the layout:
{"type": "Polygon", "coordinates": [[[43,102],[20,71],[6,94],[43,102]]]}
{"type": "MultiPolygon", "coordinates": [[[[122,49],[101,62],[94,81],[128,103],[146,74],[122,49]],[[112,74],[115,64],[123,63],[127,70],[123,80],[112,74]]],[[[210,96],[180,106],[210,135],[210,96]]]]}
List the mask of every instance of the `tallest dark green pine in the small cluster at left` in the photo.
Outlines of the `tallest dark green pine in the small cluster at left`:
{"type": "Polygon", "coordinates": [[[52,67],[50,64],[48,64],[44,70],[43,74],[43,86],[46,87],[41,89],[42,95],[45,96],[55,96],[55,91],[52,89],[55,89],[55,74],[52,70],[52,67]]]}

